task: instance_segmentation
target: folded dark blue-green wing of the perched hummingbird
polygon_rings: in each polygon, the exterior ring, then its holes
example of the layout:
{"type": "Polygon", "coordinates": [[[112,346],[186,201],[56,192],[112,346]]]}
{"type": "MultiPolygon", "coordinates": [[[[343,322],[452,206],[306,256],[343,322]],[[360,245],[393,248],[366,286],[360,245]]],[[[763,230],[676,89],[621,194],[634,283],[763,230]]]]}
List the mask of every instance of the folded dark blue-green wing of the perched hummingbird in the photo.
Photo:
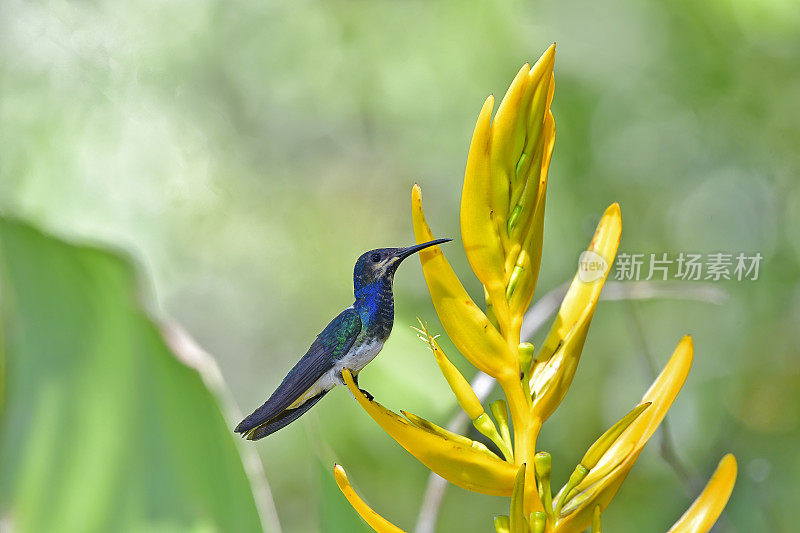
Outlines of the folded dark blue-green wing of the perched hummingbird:
{"type": "MultiPolygon", "coordinates": [[[[236,433],[247,433],[255,427],[266,424],[303,395],[322,375],[330,370],[334,361],[344,356],[361,332],[361,318],[352,307],[345,309],[331,320],[322,333],[308,349],[308,352],[294,365],[289,374],[269,399],[250,416],[236,426],[236,433]]],[[[308,408],[303,407],[319,397],[310,398],[303,405],[291,411],[300,411],[300,416],[308,408]]],[[[316,403],[316,401],[314,401],[316,403]]],[[[295,416],[294,418],[297,418],[295,416]]],[[[292,420],[294,420],[292,418],[292,420]]],[[[291,422],[289,420],[287,424],[291,422]]],[[[285,425],[285,424],[284,424],[285,425]]],[[[282,427],[282,426],[281,426],[282,427]]]]}

